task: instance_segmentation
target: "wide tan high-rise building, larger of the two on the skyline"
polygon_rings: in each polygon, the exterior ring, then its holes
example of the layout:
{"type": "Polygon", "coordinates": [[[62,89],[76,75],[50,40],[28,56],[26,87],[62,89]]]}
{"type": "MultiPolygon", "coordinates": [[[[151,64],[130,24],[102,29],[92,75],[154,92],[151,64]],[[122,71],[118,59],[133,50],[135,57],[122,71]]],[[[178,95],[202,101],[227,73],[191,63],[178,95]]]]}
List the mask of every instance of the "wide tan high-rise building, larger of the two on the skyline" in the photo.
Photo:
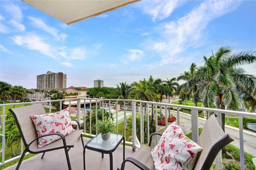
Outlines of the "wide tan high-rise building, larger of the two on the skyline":
{"type": "Polygon", "coordinates": [[[67,74],[53,73],[47,71],[46,74],[36,76],[37,89],[65,89],[67,88],[67,74]]]}

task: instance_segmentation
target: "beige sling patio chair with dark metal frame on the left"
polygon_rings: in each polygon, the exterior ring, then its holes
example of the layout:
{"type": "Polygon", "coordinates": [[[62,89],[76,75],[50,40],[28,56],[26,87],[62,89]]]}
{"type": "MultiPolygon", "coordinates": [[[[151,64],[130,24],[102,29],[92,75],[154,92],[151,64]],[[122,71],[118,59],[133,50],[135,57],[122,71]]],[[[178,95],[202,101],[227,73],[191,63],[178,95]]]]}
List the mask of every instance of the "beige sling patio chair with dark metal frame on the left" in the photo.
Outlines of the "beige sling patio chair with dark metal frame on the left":
{"type": "Polygon", "coordinates": [[[37,136],[36,130],[35,130],[35,125],[33,121],[30,118],[30,115],[42,115],[46,114],[43,105],[41,104],[36,104],[36,105],[31,105],[31,106],[26,106],[26,107],[19,107],[19,108],[12,108],[9,109],[9,111],[12,113],[15,122],[17,123],[21,139],[25,145],[25,150],[23,151],[19,163],[16,167],[18,170],[21,162],[26,154],[26,152],[29,152],[31,154],[39,154],[43,153],[41,159],[43,159],[45,152],[52,151],[52,150],[57,150],[57,149],[64,149],[65,150],[65,155],[68,163],[68,169],[71,169],[70,165],[70,160],[68,156],[68,151],[70,148],[74,147],[74,144],[76,140],[81,137],[82,140],[82,145],[84,147],[84,141],[82,138],[82,130],[80,130],[80,124],[77,120],[72,120],[76,121],[78,124],[79,130],[75,130],[74,132],[66,135],[60,134],[60,133],[53,133],[53,134],[45,134],[42,135],[41,137],[37,136]],[[42,137],[50,136],[50,135],[58,135],[60,137],[59,140],[54,141],[50,143],[49,145],[46,145],[44,147],[38,148],[37,147],[37,140],[42,137]]]}

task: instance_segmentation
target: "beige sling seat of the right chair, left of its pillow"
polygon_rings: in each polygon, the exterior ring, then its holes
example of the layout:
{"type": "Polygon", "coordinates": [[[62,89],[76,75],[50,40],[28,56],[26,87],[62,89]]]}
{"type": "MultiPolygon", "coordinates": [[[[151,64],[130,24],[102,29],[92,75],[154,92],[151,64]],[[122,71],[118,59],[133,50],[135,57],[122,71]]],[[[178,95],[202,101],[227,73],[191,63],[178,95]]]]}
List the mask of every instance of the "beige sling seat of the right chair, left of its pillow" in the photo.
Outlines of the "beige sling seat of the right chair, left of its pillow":
{"type": "MultiPolygon", "coordinates": [[[[146,145],[142,145],[132,156],[132,158],[137,159],[139,162],[147,166],[149,169],[155,169],[153,159],[151,157],[151,148],[146,145]]],[[[125,170],[137,170],[137,166],[133,165],[130,162],[125,163],[125,170]]]]}

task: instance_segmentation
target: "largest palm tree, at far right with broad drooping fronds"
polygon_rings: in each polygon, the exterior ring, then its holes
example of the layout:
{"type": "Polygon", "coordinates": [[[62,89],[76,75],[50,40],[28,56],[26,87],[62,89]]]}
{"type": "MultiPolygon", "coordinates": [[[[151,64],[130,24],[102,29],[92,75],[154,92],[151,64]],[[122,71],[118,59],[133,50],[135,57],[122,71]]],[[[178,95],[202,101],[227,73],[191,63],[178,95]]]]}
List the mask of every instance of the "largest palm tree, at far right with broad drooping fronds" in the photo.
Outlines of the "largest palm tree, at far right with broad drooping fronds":
{"type": "MultiPolygon", "coordinates": [[[[252,52],[241,52],[230,55],[231,50],[221,47],[210,58],[204,57],[205,64],[198,68],[198,77],[194,83],[202,88],[203,105],[225,109],[225,105],[238,109],[241,104],[237,91],[253,98],[256,89],[256,78],[245,74],[244,69],[237,66],[251,64],[256,61],[252,52]]],[[[225,131],[225,114],[221,114],[222,129],[225,131]]]]}

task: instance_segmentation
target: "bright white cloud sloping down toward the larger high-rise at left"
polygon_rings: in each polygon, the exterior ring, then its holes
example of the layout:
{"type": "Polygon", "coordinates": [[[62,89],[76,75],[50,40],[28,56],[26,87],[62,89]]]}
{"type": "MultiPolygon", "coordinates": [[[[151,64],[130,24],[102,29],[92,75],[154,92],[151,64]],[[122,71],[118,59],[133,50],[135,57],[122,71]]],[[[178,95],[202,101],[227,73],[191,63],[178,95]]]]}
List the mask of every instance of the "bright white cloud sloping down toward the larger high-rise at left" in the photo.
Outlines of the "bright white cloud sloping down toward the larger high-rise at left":
{"type": "Polygon", "coordinates": [[[25,46],[31,50],[37,50],[46,56],[55,58],[54,50],[51,48],[51,45],[45,43],[43,38],[35,34],[30,33],[25,36],[14,36],[12,37],[12,40],[17,45],[25,46]]]}

